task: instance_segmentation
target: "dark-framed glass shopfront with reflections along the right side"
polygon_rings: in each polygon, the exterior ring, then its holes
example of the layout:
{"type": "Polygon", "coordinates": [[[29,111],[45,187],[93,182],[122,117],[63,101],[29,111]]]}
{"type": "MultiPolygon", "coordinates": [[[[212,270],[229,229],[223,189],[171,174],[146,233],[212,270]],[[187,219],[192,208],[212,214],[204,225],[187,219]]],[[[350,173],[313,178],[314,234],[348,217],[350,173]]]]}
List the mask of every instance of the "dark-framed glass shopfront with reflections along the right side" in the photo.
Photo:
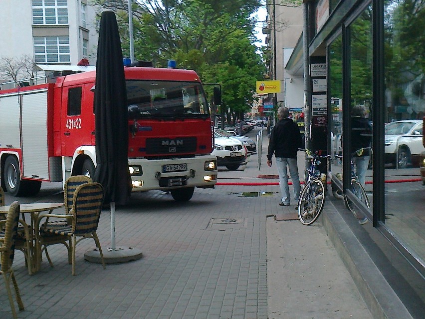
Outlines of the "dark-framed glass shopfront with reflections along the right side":
{"type": "Polygon", "coordinates": [[[425,4],[317,0],[304,5],[307,145],[332,155],[325,169],[333,191],[347,195],[358,216],[367,216],[425,276],[425,186],[417,156],[424,151],[425,4]],[[370,134],[359,134],[359,118],[370,134]],[[368,161],[364,188],[370,207],[350,191],[352,153],[359,145],[370,147],[362,154],[368,161]]]}

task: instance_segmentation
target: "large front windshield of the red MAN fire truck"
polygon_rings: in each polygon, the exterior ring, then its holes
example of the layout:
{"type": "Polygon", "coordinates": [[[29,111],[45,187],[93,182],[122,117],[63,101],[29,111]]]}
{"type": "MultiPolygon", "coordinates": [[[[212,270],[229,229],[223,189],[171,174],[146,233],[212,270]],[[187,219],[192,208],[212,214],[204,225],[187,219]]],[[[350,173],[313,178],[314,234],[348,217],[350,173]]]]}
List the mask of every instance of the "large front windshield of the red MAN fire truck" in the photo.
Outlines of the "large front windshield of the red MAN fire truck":
{"type": "Polygon", "coordinates": [[[198,82],[127,80],[131,119],[144,117],[207,117],[208,104],[198,82]]]}

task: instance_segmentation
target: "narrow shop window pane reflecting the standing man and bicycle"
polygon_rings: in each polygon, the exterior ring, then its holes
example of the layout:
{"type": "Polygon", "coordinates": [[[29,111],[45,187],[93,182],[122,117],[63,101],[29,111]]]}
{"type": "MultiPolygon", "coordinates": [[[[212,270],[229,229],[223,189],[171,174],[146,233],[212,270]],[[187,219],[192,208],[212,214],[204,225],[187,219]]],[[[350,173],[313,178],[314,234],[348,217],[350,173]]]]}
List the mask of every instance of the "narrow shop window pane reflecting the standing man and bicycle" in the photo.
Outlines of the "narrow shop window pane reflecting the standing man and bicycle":
{"type": "MultiPolygon", "coordinates": [[[[352,183],[354,200],[365,208],[372,206],[373,173],[372,173],[372,6],[366,9],[349,26],[350,38],[350,145],[352,183]],[[366,195],[357,182],[364,188],[366,195]],[[369,198],[369,201],[367,200],[369,198]]],[[[356,203],[354,203],[355,205],[356,203]]],[[[350,205],[353,209],[354,207],[350,205]]],[[[369,207],[370,209],[370,207],[369,207]]],[[[365,215],[360,208],[354,208],[354,215],[362,220],[365,215]]],[[[372,215],[372,214],[370,214],[372,215]]],[[[365,222],[364,220],[363,222],[365,222]]]]}

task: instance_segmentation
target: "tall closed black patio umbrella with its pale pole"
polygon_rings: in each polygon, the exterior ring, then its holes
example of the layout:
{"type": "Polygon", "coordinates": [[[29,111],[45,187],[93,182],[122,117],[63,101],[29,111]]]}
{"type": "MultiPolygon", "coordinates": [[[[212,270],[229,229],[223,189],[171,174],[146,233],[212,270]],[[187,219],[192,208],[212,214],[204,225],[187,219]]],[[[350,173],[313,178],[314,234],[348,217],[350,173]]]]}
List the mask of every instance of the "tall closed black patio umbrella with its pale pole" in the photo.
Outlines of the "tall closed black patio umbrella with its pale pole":
{"type": "MultiPolygon", "coordinates": [[[[115,13],[104,11],[100,21],[94,93],[96,161],[93,180],[111,203],[111,232],[115,232],[115,203],[125,205],[131,192],[128,169],[128,113],[123,55],[115,13]]],[[[113,234],[112,248],[115,249],[113,234]]]]}

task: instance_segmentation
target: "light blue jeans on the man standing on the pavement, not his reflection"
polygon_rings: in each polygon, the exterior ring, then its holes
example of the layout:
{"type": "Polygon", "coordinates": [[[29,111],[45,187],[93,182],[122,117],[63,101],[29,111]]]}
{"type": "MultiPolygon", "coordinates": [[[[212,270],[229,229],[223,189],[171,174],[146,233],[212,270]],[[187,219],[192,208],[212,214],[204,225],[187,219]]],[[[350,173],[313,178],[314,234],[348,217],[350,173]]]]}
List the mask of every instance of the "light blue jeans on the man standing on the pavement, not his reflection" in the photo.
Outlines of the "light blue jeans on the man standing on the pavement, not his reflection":
{"type": "Polygon", "coordinates": [[[279,173],[280,192],[282,194],[282,203],[290,204],[289,186],[288,186],[288,171],[291,175],[292,185],[294,187],[294,199],[298,202],[301,193],[300,178],[298,176],[298,164],[296,158],[276,157],[277,172],[279,173]]]}

